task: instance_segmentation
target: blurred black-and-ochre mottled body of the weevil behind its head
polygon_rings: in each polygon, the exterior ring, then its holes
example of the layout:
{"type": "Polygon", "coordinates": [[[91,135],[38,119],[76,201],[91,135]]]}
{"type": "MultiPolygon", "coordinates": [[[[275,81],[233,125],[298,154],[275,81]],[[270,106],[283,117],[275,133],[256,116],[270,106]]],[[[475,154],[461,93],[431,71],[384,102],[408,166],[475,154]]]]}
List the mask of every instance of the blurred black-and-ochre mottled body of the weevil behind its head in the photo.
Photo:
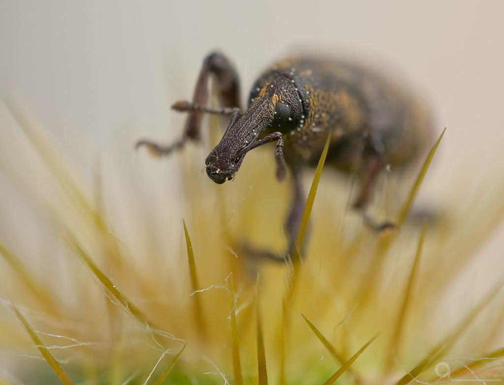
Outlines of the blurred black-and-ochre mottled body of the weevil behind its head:
{"type": "Polygon", "coordinates": [[[265,132],[283,134],[284,156],[291,167],[316,164],[328,134],[327,163],[341,171],[355,171],[366,156],[374,154],[384,164],[402,166],[417,155],[429,131],[425,108],[418,100],[355,65],[306,57],[281,60],[256,81],[249,108],[271,85],[280,99],[265,132]],[[278,89],[279,76],[292,87],[278,89]],[[285,98],[286,93],[295,97],[285,98]],[[292,116],[283,111],[293,111],[292,116]]]}

